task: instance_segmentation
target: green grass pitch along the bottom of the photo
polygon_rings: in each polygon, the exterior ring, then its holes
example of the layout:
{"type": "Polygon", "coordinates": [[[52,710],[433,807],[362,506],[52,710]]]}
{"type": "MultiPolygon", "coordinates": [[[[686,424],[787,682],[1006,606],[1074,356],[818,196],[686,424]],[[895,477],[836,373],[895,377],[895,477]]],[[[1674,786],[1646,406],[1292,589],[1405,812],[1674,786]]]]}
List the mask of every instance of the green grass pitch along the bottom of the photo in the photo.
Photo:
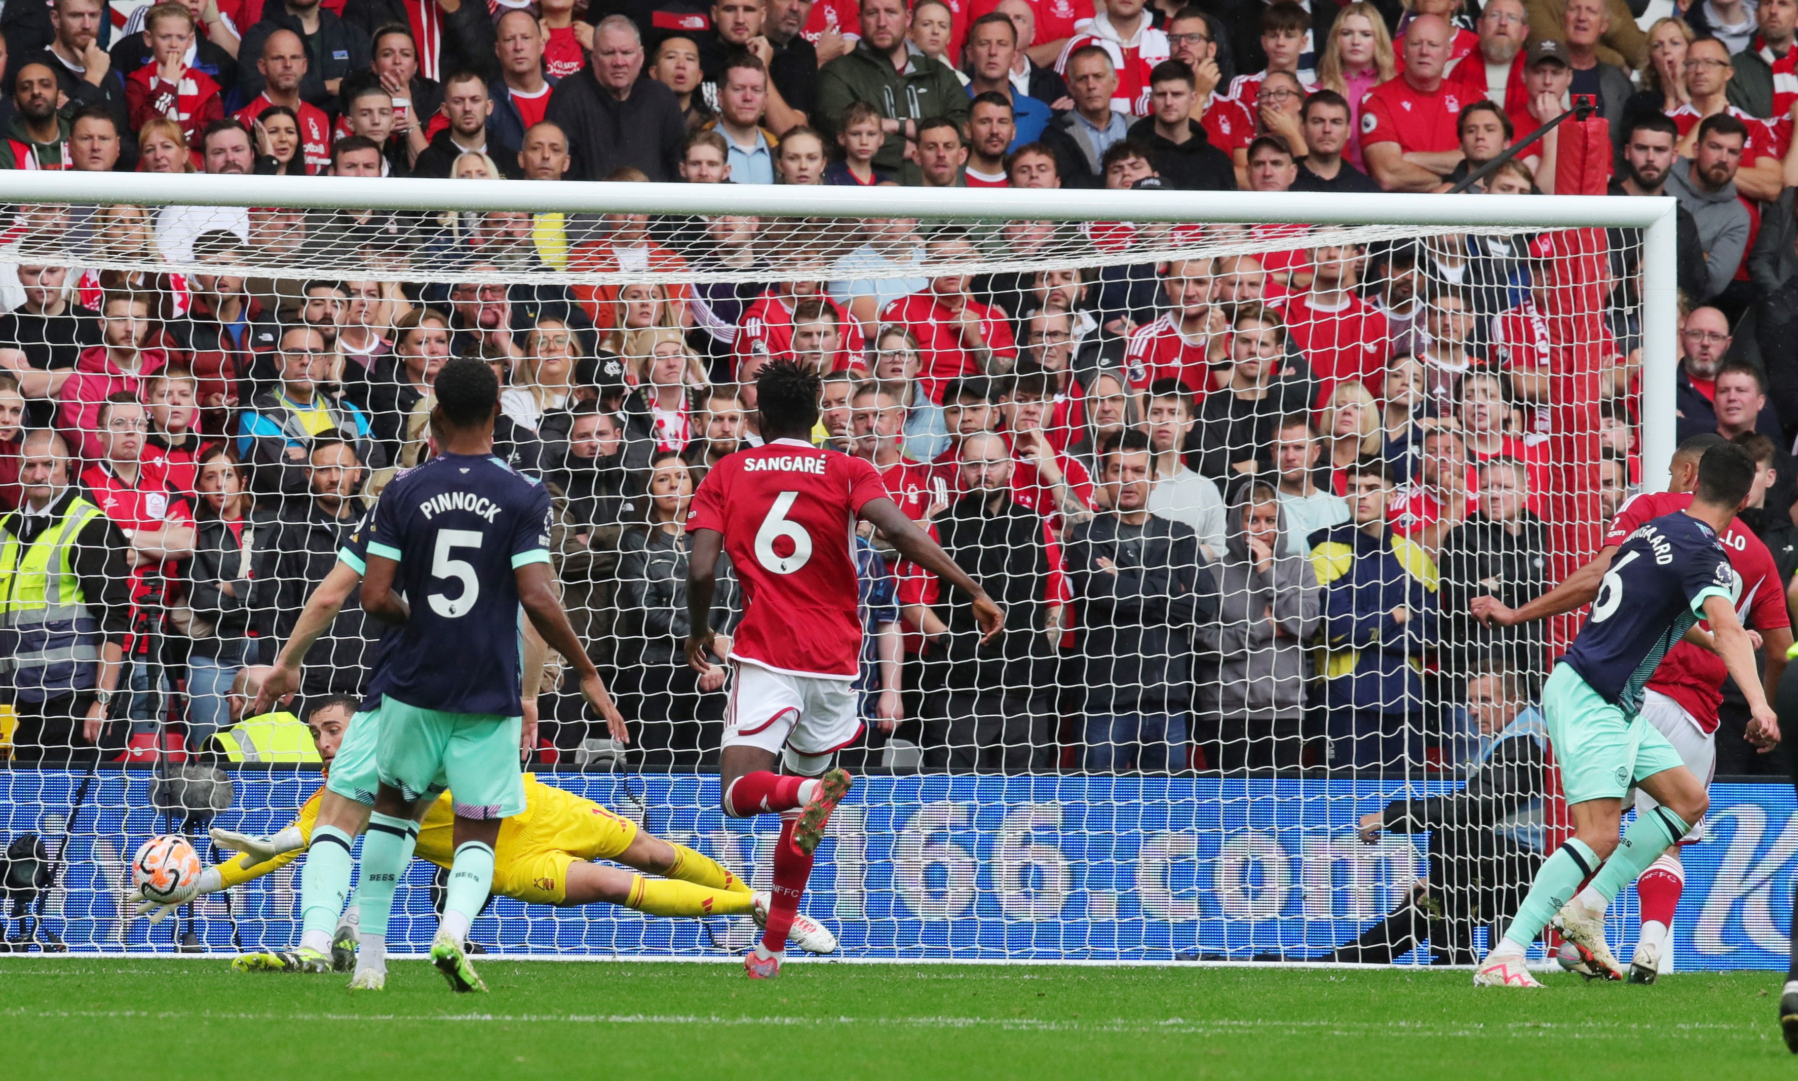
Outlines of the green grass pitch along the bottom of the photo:
{"type": "Polygon", "coordinates": [[[225,960],[0,959],[0,1077],[1791,1077],[1776,973],[505,962],[453,996],[225,960]]]}

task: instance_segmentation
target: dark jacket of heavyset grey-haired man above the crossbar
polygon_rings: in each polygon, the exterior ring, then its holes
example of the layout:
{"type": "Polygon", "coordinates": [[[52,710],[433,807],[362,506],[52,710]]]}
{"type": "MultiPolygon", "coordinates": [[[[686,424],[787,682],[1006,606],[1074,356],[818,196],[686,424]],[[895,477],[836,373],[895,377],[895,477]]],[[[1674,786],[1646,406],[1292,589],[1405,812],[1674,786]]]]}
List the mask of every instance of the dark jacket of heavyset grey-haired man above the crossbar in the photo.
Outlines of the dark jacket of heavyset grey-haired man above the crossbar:
{"type": "Polygon", "coordinates": [[[649,76],[638,76],[631,97],[619,101],[588,65],[556,85],[545,119],[568,135],[568,180],[604,180],[624,165],[642,169],[649,180],[678,176],[687,121],[674,92],[649,76]]]}

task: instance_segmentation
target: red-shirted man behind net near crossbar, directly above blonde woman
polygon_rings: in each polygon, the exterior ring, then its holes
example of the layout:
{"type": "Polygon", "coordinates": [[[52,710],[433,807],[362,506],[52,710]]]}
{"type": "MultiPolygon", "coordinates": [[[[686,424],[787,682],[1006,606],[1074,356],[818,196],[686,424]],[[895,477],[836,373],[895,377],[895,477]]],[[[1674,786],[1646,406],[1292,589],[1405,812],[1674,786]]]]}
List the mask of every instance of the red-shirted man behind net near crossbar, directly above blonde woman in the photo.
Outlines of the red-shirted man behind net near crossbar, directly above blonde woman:
{"type": "Polygon", "coordinates": [[[1318,401],[1329,398],[1340,380],[1357,380],[1375,396],[1392,358],[1386,317],[1356,293],[1361,245],[1325,241],[1313,252],[1311,290],[1280,302],[1293,344],[1311,363],[1318,381],[1318,401]]]}

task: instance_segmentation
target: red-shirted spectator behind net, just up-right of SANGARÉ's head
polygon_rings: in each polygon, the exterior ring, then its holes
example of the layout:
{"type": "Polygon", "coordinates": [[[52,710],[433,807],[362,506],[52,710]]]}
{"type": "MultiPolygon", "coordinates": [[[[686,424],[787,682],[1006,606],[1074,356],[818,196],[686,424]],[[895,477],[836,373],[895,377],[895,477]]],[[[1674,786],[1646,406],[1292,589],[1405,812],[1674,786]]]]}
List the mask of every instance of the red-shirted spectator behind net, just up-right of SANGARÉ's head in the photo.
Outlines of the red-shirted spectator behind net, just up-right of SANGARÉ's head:
{"type": "MultiPolygon", "coordinates": [[[[960,232],[942,230],[924,246],[926,261],[937,266],[973,261],[973,241],[960,232]]],[[[996,376],[1018,358],[1016,340],[1005,313],[975,300],[971,275],[935,277],[930,290],[901,297],[881,311],[881,322],[903,322],[917,336],[924,360],[924,389],[931,401],[942,401],[942,385],[955,376],[996,376]]]]}

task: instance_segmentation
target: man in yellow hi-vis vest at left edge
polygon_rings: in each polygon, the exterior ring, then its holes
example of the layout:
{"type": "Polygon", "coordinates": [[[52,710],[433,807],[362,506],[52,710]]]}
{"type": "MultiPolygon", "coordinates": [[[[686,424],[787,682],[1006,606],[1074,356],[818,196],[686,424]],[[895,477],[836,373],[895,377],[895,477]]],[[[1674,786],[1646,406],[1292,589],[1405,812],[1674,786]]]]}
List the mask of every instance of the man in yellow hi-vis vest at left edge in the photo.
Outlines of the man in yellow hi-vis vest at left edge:
{"type": "Polygon", "coordinates": [[[23,502],[0,518],[0,694],[18,712],[13,757],[88,761],[131,631],[131,547],[68,482],[61,435],[32,432],[20,457],[23,502]]]}

